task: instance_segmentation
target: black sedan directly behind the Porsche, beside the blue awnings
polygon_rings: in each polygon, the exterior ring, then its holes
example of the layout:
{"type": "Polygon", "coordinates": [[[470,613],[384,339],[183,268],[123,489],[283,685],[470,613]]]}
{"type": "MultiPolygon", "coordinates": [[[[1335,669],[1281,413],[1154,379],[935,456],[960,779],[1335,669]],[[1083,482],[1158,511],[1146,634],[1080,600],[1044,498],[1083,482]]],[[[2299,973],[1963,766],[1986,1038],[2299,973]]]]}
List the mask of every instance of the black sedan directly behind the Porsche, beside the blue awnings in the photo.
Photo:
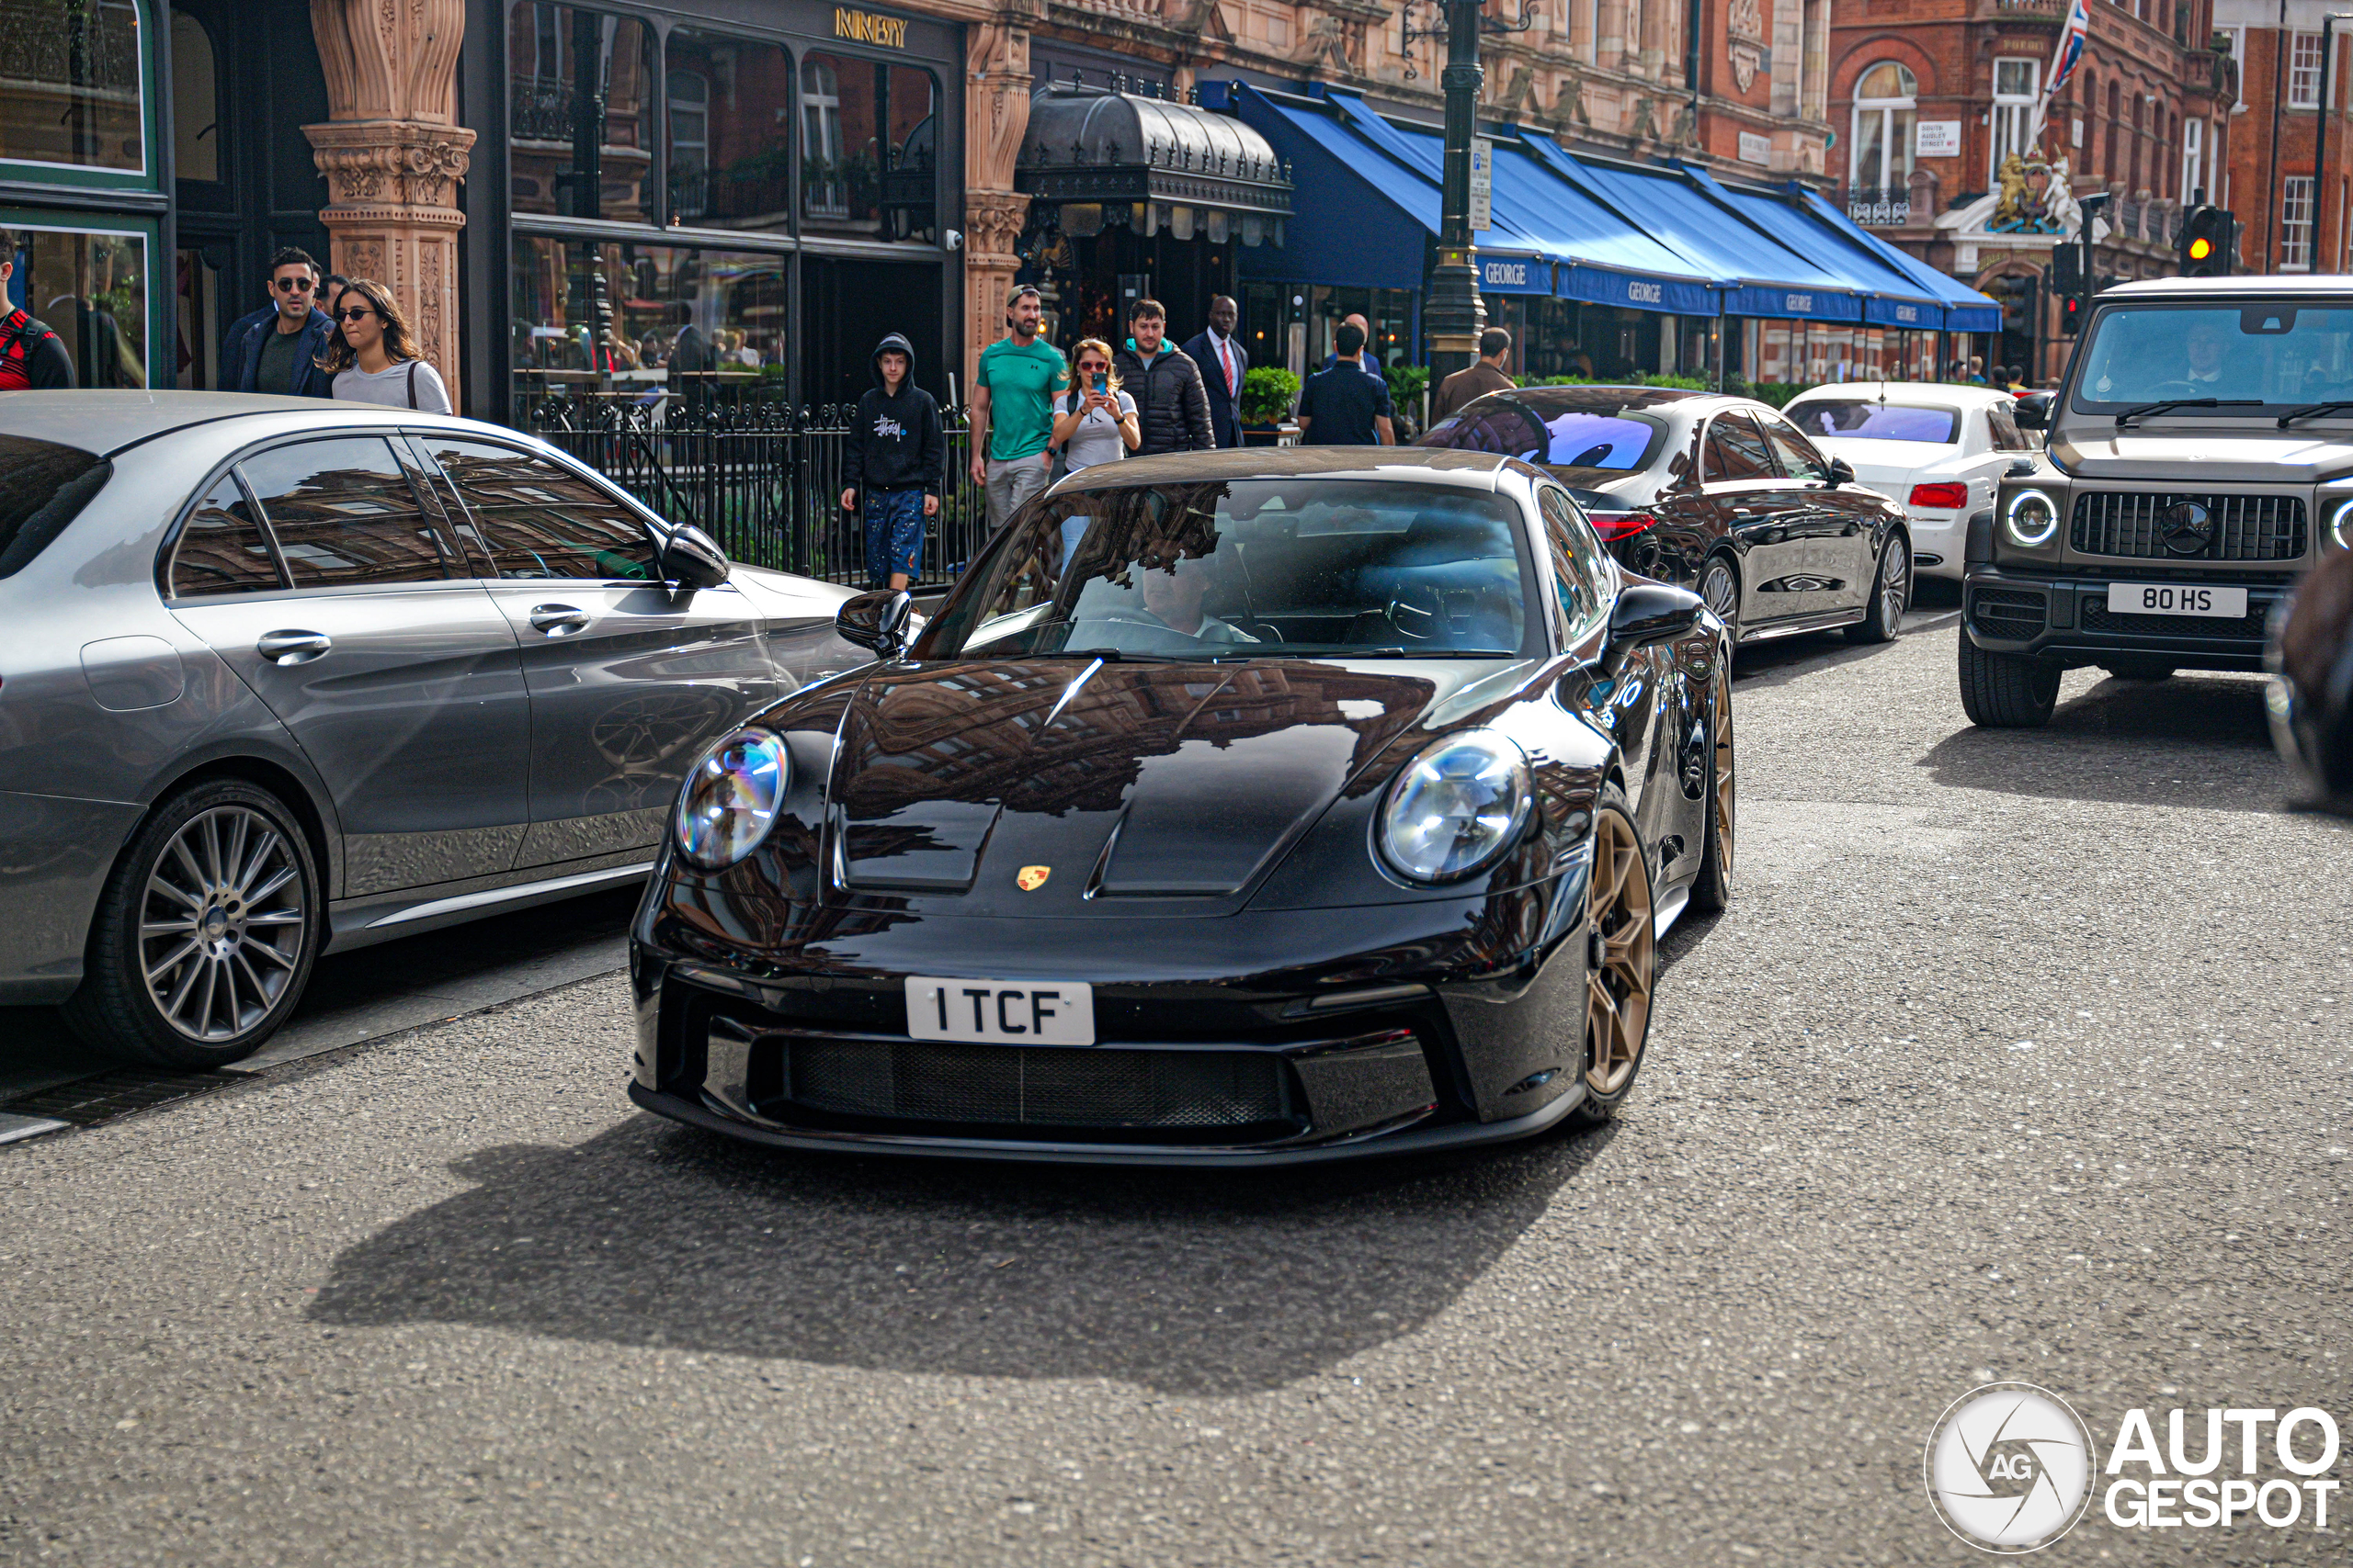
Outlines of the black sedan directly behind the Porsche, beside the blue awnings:
{"type": "Polygon", "coordinates": [[[1911,607],[1904,508],[1753,397],[1537,386],[1487,393],[1414,444],[1544,468],[1619,562],[1697,588],[1734,642],[1887,642],[1911,607]]]}

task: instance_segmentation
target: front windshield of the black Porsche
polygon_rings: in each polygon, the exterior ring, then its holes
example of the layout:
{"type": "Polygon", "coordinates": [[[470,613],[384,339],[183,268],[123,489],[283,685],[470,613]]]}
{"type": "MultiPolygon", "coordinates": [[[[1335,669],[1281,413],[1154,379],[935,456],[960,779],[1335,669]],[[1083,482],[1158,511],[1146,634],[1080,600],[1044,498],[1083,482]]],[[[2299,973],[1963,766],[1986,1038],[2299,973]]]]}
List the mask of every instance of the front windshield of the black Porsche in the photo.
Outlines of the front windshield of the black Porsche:
{"type": "Polygon", "coordinates": [[[1056,496],[998,543],[920,658],[1520,656],[1504,496],[1409,480],[1214,480],[1056,496]]]}

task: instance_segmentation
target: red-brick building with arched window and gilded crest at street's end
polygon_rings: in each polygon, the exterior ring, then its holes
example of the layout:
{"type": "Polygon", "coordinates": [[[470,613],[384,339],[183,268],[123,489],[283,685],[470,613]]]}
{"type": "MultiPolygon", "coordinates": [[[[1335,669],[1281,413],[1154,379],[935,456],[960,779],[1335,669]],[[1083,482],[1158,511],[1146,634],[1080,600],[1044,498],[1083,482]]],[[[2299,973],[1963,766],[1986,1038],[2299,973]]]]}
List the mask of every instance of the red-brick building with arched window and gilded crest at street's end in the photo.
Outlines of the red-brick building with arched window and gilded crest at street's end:
{"type": "Polygon", "coordinates": [[[2089,0],[2082,61],[2038,125],[2066,0],[1838,0],[1828,172],[1849,216],[2002,299],[1995,362],[2057,376],[2068,343],[2042,273],[2075,197],[2113,197],[2097,273],[2160,277],[2184,205],[2219,195],[2245,136],[2214,31],[2231,2],[2254,0],[2089,0]]]}

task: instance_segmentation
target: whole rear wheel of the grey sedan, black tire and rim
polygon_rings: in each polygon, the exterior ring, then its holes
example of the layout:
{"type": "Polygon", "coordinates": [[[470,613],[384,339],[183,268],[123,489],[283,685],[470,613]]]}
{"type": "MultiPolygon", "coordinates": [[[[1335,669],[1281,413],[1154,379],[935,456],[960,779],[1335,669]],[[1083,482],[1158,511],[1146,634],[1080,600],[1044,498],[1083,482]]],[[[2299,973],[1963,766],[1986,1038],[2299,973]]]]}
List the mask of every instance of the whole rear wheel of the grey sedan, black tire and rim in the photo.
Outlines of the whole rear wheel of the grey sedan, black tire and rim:
{"type": "Polygon", "coordinates": [[[148,811],[106,879],[66,1023],[155,1067],[242,1060],[301,1001],[322,931],[311,839],[285,802],[238,778],[191,785],[148,811]]]}

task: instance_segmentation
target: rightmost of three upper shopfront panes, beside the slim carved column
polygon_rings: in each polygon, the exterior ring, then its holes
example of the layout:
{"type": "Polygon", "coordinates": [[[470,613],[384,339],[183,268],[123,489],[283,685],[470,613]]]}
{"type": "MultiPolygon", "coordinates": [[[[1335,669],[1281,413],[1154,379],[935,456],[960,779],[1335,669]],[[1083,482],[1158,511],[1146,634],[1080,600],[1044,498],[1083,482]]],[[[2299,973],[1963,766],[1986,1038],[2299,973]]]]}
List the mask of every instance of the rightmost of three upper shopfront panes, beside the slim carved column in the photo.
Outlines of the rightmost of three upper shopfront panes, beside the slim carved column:
{"type": "Polygon", "coordinates": [[[939,82],[840,54],[800,61],[800,221],[809,233],[939,233],[939,82]]]}

